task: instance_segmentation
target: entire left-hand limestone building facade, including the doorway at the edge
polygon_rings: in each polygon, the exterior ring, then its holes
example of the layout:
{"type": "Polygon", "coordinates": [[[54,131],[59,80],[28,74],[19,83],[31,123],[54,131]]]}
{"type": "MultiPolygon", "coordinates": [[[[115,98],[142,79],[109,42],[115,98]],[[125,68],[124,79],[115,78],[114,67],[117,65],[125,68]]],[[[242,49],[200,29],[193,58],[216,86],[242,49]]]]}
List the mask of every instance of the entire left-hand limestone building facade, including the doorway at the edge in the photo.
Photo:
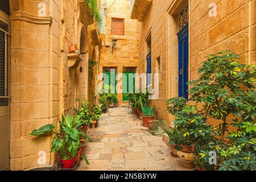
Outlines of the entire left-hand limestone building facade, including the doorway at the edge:
{"type": "Polygon", "coordinates": [[[96,22],[82,0],[5,0],[0,10],[0,169],[38,167],[40,155],[50,166],[52,138],[30,133],[57,127],[76,98],[88,97],[88,60],[100,50],[96,22]],[[70,53],[71,44],[81,55],[70,53]]]}

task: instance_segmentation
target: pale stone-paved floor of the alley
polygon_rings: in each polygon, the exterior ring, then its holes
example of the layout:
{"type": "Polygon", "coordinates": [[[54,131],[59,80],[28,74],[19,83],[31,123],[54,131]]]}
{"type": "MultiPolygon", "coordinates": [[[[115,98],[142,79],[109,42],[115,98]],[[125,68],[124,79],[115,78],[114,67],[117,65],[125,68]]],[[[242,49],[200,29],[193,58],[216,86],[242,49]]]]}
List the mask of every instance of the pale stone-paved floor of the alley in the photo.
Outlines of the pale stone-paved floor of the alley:
{"type": "Polygon", "coordinates": [[[131,109],[118,107],[102,114],[100,125],[88,131],[93,140],[86,147],[90,166],[79,170],[187,170],[174,158],[162,137],[150,134],[131,109]]]}

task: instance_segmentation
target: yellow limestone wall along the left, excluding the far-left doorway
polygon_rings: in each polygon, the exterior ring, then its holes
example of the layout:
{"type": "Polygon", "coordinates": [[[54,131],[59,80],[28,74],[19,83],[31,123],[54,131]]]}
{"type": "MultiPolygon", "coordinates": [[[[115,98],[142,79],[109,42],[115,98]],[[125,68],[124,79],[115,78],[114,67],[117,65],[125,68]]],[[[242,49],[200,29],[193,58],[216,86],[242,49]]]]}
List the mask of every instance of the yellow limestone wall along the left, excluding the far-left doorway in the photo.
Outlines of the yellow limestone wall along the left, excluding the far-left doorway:
{"type": "Polygon", "coordinates": [[[49,123],[57,127],[61,114],[73,114],[75,98],[88,94],[88,56],[98,47],[92,46],[77,0],[11,0],[10,5],[10,169],[51,166],[52,137],[30,133],[49,123]],[[38,15],[39,3],[46,5],[46,16],[38,15]],[[71,43],[80,46],[82,27],[86,53],[80,73],[79,67],[69,71],[67,54],[71,43]],[[46,152],[44,165],[38,163],[39,151],[46,152]]]}

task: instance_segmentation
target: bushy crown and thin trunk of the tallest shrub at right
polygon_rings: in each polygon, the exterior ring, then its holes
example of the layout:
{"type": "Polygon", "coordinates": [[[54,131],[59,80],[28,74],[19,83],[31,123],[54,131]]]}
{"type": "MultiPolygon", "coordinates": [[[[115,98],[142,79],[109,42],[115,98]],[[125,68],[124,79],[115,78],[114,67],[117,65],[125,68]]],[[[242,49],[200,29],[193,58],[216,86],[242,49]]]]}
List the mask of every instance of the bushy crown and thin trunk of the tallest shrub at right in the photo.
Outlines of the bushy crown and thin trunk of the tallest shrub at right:
{"type": "MultiPolygon", "coordinates": [[[[208,55],[199,69],[199,79],[188,82],[191,85],[191,100],[203,104],[200,113],[205,118],[209,116],[222,121],[218,126],[222,140],[228,131],[228,116],[233,114],[241,117],[241,109],[246,106],[246,101],[243,100],[246,94],[244,88],[255,88],[253,84],[256,83],[255,65],[241,64],[238,59],[236,53],[229,51],[208,55]]],[[[247,92],[253,92],[249,90],[247,92]]],[[[247,106],[250,110],[247,115],[249,117],[253,110],[251,105],[247,106]]]]}

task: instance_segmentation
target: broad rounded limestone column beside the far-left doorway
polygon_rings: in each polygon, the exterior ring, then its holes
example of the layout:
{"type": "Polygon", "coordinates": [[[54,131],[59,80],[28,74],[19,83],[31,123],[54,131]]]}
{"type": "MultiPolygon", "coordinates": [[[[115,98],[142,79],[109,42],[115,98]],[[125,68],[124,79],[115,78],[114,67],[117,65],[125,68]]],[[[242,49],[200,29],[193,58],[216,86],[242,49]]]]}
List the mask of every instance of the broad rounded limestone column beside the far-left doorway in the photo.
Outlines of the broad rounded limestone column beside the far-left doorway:
{"type": "Polygon", "coordinates": [[[53,163],[52,137],[32,137],[30,133],[49,123],[57,125],[60,2],[10,1],[12,170],[53,163]],[[38,163],[39,155],[46,156],[46,164],[38,163]]]}

